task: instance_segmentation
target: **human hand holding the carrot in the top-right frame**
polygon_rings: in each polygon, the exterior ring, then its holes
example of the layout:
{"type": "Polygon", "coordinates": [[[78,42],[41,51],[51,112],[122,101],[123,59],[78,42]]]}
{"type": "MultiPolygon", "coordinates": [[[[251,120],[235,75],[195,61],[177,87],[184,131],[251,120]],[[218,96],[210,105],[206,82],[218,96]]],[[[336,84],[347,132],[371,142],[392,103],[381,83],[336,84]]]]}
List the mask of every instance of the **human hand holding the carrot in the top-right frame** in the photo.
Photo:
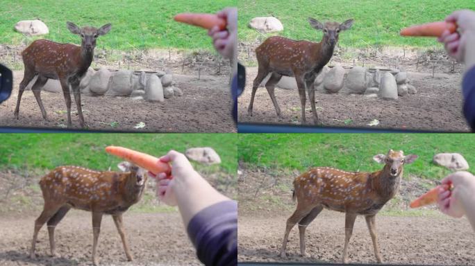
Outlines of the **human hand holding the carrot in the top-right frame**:
{"type": "Polygon", "coordinates": [[[451,57],[458,62],[465,62],[467,36],[475,35],[475,12],[458,10],[449,15],[445,21],[457,24],[458,32],[450,33],[449,30],[445,30],[437,40],[444,43],[451,57]]]}

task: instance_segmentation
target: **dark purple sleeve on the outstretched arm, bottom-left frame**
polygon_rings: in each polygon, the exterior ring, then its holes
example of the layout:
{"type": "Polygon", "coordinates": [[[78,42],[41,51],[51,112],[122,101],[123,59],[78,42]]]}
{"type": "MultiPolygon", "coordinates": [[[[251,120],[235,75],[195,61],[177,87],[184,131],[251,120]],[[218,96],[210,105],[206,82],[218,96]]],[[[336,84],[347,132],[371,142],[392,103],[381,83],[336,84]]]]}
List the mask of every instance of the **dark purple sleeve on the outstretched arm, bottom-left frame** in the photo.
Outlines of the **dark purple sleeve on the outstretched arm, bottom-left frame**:
{"type": "Polygon", "coordinates": [[[238,203],[227,200],[199,211],[188,224],[188,236],[205,265],[237,265],[238,203]]]}

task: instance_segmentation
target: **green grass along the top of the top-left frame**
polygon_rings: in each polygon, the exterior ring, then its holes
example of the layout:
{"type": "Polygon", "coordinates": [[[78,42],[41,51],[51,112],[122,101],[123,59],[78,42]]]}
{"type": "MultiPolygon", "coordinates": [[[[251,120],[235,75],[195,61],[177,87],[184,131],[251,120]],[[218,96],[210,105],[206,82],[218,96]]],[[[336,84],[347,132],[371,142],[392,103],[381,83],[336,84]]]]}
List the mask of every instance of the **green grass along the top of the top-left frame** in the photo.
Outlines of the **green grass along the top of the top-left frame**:
{"type": "Polygon", "coordinates": [[[40,19],[49,27],[49,34],[34,39],[80,44],[78,36],[69,33],[66,21],[78,26],[99,27],[112,23],[108,35],[99,37],[97,46],[115,50],[135,48],[199,48],[213,49],[206,30],[175,22],[179,12],[215,13],[233,0],[165,1],[165,0],[2,0],[0,8],[0,43],[31,42],[14,30],[25,19],[40,19]]]}

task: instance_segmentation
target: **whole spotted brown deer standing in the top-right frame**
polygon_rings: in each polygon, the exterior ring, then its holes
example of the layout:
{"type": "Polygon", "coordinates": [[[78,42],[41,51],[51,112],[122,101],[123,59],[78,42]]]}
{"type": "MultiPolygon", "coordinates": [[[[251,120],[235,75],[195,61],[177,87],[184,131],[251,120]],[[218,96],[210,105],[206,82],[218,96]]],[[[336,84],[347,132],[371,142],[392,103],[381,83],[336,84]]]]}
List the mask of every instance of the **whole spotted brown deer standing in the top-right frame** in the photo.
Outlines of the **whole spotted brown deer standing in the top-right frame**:
{"type": "Polygon", "coordinates": [[[324,35],[321,42],[294,41],[285,37],[272,36],[256,48],[258,74],[253,82],[251,102],[247,109],[249,116],[252,116],[256,91],[260,83],[270,73],[271,76],[267,80],[265,87],[274,104],[277,115],[281,116],[281,109],[278,107],[276,96],[274,95],[274,87],[281,80],[282,76],[295,77],[301,102],[302,124],[306,123],[306,90],[308,91],[308,98],[312,107],[313,122],[315,125],[318,124],[313,82],[318,73],[322,71],[322,68],[330,61],[335,44],[338,42],[340,31],[351,28],[353,19],[348,19],[342,24],[338,22],[322,24],[313,18],[308,18],[308,21],[313,28],[323,30],[324,35]]]}

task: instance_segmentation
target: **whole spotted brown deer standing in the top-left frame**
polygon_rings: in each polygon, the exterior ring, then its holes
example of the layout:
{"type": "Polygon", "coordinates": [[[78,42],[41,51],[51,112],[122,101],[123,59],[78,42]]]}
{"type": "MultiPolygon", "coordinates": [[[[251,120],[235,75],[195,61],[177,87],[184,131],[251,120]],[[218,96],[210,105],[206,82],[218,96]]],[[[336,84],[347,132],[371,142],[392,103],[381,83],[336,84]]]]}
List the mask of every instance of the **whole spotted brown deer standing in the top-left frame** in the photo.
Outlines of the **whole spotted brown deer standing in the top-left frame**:
{"type": "Polygon", "coordinates": [[[85,26],[78,28],[76,24],[67,22],[67,28],[73,34],[79,35],[82,39],[81,46],[74,44],[58,44],[46,39],[38,39],[32,42],[22,52],[23,62],[25,66],[24,77],[19,85],[17,107],[15,107],[15,118],[18,119],[20,100],[25,87],[38,76],[36,82],[31,87],[33,95],[40,105],[41,114],[44,120],[47,120],[47,114],[44,110],[41,100],[41,88],[46,84],[49,78],[59,80],[63,88],[63,95],[67,108],[67,126],[72,127],[71,123],[71,93],[69,86],[74,94],[74,101],[78,109],[79,124],[86,127],[83,118],[83,110],[81,108],[81,91],[79,91],[79,83],[88,71],[94,57],[94,48],[96,47],[96,39],[101,35],[106,35],[110,28],[110,24],[106,24],[101,28],[85,26]]]}

